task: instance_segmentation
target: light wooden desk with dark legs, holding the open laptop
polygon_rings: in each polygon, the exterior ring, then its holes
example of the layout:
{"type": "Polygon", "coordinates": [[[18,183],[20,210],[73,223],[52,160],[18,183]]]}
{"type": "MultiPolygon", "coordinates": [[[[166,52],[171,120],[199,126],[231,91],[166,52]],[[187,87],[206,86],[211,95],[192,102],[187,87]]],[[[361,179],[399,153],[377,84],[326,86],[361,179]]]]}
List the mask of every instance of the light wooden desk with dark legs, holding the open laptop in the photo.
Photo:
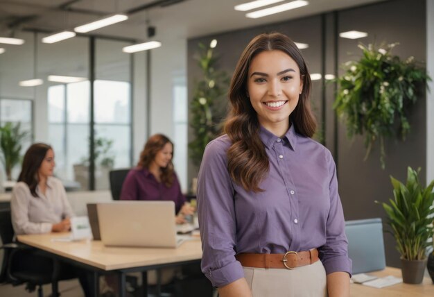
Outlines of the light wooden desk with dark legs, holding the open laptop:
{"type": "MultiPolygon", "coordinates": [[[[98,296],[98,278],[106,271],[119,272],[119,296],[125,296],[125,273],[164,266],[198,262],[202,258],[200,239],[185,241],[178,248],[106,247],[101,241],[56,241],[69,233],[18,235],[19,242],[94,271],[94,295],[98,296]]],[[[144,286],[146,288],[146,284],[144,286]]],[[[146,289],[144,290],[146,292],[146,289]]],[[[145,293],[146,294],[146,293],[145,293]]]]}

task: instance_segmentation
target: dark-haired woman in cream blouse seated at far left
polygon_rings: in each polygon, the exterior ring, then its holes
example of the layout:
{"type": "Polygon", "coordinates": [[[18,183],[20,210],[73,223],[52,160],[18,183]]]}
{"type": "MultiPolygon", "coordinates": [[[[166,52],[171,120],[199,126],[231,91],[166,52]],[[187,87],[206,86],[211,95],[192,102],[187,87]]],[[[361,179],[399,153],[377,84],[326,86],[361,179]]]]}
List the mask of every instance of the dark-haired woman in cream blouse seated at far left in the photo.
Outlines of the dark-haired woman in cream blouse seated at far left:
{"type": "MultiPolygon", "coordinates": [[[[53,148],[32,144],[24,155],[18,183],[12,189],[10,210],[15,235],[63,232],[71,228],[71,205],[60,180],[53,177],[53,148]]],[[[14,263],[26,271],[53,271],[53,260],[37,250],[23,252],[14,263]]],[[[80,275],[80,284],[89,296],[87,275],[80,269],[60,262],[59,279],[80,275]]]]}

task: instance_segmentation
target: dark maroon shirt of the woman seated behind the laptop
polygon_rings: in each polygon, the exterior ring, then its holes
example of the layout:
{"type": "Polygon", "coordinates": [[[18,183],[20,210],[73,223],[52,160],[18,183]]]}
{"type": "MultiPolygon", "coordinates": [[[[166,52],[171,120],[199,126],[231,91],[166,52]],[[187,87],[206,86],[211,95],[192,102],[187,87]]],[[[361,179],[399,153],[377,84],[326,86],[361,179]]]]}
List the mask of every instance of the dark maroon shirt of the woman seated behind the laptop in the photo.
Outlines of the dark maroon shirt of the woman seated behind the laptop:
{"type": "Polygon", "coordinates": [[[186,201],[175,173],[171,187],[166,187],[148,169],[139,167],[128,172],[122,185],[121,200],[174,201],[176,213],[186,201]]]}

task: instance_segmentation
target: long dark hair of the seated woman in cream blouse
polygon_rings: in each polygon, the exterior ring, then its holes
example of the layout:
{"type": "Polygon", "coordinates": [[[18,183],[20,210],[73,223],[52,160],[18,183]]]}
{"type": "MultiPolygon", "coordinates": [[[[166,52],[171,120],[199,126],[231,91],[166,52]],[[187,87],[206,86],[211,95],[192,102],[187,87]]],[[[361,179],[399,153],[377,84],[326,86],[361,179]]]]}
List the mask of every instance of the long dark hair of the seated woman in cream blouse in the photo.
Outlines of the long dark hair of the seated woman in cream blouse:
{"type": "Polygon", "coordinates": [[[50,149],[53,148],[48,144],[32,144],[24,155],[23,165],[21,167],[21,173],[19,173],[18,181],[24,182],[28,185],[33,197],[37,197],[36,187],[40,181],[37,171],[40,169],[42,161],[44,161],[46,152],[50,149]]]}

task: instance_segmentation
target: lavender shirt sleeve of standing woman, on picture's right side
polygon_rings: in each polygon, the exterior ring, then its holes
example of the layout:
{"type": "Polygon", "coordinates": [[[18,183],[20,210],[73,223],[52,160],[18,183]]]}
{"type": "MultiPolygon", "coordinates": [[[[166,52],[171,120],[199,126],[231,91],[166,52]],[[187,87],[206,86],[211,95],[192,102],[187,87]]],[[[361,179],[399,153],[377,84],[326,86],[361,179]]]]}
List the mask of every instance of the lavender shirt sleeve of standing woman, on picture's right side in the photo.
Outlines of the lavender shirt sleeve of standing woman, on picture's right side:
{"type": "Polygon", "coordinates": [[[345,235],[345,219],[338,193],[336,164],[327,151],[329,167],[330,210],[326,226],[326,243],[320,248],[320,258],[326,273],[345,271],[351,276],[351,260],[348,257],[348,240],[345,235]]]}

